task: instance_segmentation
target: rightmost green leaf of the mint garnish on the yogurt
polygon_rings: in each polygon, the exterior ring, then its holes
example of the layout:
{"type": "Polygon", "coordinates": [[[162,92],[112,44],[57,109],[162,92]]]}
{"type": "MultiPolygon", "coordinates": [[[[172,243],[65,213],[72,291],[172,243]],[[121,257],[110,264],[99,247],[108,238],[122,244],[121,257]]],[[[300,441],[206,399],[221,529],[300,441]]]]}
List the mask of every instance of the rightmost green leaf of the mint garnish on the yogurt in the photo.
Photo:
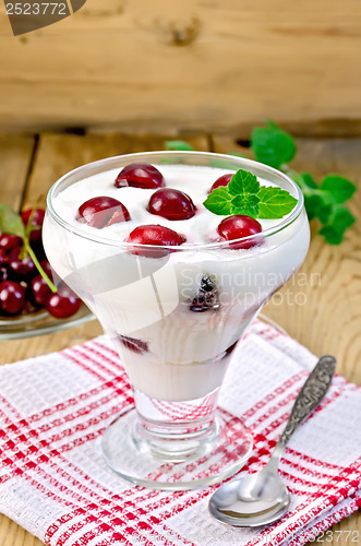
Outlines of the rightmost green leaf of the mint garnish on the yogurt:
{"type": "Polygon", "coordinates": [[[260,218],[282,218],[291,212],[297,203],[297,199],[288,191],[273,186],[262,186],[257,198],[260,199],[260,218]]]}

